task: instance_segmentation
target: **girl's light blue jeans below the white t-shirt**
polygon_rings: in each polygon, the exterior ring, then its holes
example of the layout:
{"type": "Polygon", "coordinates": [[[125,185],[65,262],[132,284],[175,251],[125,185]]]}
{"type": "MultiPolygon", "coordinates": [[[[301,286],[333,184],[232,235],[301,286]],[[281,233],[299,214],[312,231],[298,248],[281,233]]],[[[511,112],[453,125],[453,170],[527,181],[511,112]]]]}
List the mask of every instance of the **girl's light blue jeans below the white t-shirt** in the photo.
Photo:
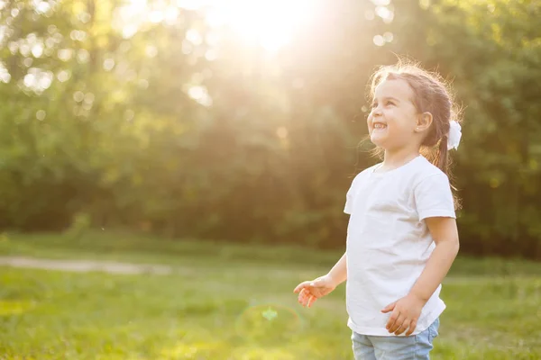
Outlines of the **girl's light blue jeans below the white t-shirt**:
{"type": "Polygon", "coordinates": [[[439,319],[409,337],[372,337],[353,331],[353,355],[355,360],[428,360],[438,329],[439,319]]]}

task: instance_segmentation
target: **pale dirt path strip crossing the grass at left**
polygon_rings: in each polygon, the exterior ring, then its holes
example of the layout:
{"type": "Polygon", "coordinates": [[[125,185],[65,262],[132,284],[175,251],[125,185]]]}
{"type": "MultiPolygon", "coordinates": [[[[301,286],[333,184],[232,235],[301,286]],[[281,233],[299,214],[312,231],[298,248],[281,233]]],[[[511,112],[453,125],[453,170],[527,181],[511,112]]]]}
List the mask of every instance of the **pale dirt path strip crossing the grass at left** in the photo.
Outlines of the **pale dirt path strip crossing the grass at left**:
{"type": "Polygon", "coordinates": [[[0,266],[71,271],[76,273],[98,271],[124,275],[169,275],[173,271],[172,267],[161,265],[128,264],[97,260],[60,260],[35,257],[0,257],[0,266]]]}

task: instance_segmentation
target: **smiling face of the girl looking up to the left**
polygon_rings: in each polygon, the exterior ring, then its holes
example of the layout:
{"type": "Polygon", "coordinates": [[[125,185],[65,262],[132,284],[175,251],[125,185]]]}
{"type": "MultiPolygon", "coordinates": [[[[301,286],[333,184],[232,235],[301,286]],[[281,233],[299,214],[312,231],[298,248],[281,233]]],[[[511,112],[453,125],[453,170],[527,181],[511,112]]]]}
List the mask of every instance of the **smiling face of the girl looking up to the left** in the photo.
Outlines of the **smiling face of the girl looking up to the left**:
{"type": "Polygon", "coordinates": [[[368,132],[371,142],[385,150],[404,148],[417,141],[417,109],[413,90],[405,80],[384,80],[376,87],[368,132]]]}

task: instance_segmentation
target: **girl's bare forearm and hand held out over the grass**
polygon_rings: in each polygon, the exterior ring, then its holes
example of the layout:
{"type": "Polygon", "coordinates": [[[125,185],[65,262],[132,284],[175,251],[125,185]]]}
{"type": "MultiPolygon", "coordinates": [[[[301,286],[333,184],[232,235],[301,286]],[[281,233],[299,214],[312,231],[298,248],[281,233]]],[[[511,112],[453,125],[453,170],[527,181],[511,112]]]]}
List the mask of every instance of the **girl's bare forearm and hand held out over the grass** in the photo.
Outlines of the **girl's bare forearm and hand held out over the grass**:
{"type": "Polygon", "coordinates": [[[317,299],[331,293],[336,286],[344,283],[346,279],[347,263],[344,253],[326,275],[298,284],[293,292],[298,293],[298,302],[309,308],[317,299]]]}

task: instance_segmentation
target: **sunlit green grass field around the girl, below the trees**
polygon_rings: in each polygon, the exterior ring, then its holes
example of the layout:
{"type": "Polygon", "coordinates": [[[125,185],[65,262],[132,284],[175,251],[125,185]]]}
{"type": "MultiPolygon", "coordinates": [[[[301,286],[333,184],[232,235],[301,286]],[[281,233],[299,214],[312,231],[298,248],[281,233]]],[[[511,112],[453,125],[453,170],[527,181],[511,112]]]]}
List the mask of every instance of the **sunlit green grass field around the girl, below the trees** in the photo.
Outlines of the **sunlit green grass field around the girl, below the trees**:
{"type": "MultiPolygon", "coordinates": [[[[293,287],[339,252],[173,242],[104,231],[4,235],[0,256],[174,266],[171,275],[0,267],[0,359],[352,359],[344,286],[301,308],[293,287]]],[[[541,359],[541,264],[460,257],[434,359],[541,359]]]]}

